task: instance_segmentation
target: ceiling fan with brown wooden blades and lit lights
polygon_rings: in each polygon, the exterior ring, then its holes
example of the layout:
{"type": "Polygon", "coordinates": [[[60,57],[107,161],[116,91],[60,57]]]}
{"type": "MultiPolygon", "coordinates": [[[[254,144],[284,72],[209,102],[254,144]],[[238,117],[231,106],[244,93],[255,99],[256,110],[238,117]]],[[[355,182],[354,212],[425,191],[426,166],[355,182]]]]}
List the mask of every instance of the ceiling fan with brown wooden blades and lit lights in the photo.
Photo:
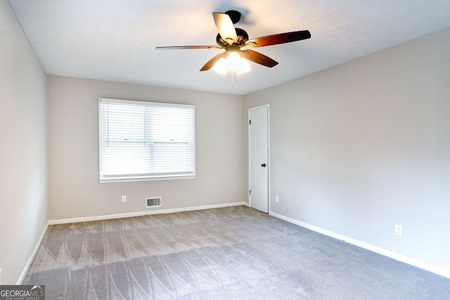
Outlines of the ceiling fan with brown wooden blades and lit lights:
{"type": "Polygon", "coordinates": [[[165,49],[225,49],[224,53],[217,54],[210,59],[200,71],[210,70],[221,58],[228,58],[231,53],[237,53],[240,58],[251,60],[259,65],[266,67],[274,67],[278,63],[264,56],[256,51],[248,48],[257,48],[278,44],[290,43],[292,41],[300,41],[302,39],[309,39],[311,33],[308,30],[284,32],[280,34],[267,35],[265,37],[257,37],[256,39],[248,39],[248,34],[245,30],[235,28],[234,24],[240,20],[240,12],[226,11],[225,13],[212,13],[214,23],[216,24],[219,34],[217,34],[216,41],[219,46],[167,46],[156,47],[158,50],[165,49]],[[245,48],[241,50],[241,48],[245,48]]]}

